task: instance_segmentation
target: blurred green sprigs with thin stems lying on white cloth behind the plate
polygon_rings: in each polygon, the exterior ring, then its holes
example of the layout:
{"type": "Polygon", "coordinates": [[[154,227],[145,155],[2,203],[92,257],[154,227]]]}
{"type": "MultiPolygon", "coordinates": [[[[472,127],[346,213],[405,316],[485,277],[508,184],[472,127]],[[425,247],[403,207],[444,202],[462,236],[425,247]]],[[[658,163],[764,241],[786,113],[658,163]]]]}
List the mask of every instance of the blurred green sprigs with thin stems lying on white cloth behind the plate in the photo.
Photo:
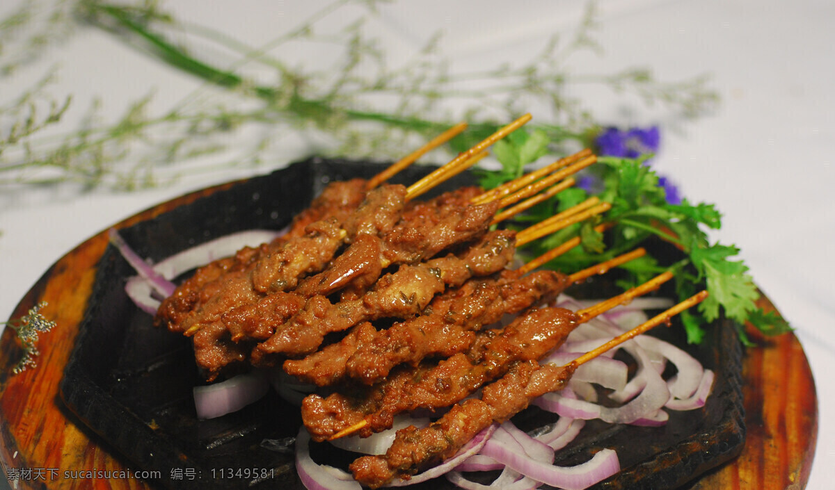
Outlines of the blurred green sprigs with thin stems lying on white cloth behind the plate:
{"type": "Polygon", "coordinates": [[[114,122],[103,122],[94,102],[78,128],[38,138],[72,107],[70,96],[49,95],[54,80],[54,71],[50,72],[33,91],[0,107],[0,185],[152,187],[177,178],[178,168],[195,172],[213,166],[260,165],[281,135],[291,132],[326,135],[334,143],[320,153],[396,158],[402,156],[402,148],[466,120],[468,132],[450,143],[450,152],[457,153],[527,112],[526,107],[549,112],[549,117],[540,118],[547,122],[535,122],[532,128],[547,136],[551,151],[560,151],[565,143],[590,143],[599,130],[584,103],[571,95],[571,87],[584,83],[630,92],[686,117],[709,111],[718,100],[706,77],[659,82],[649,69],[638,67],[602,76],[571,72],[568,60],[575,53],[602,51],[594,37],[600,28],[594,2],[588,4],[576,28],[555,35],[528,61],[478,72],[453,72],[443,54],[440,33],[411,59],[390,66],[392,60],[382,42],[370,37],[365,28],[382,7],[378,3],[337,0],[265,46],[254,48],[223,32],[183,23],[150,0],[133,4],[22,2],[0,21],[0,77],[18,71],[24,60],[36,58],[80,26],[92,26],[142,47],[149,56],[199,78],[204,85],[161,114],[151,114],[152,96],[144,97],[130,103],[114,122]],[[38,12],[47,13],[38,17],[38,12]],[[343,13],[350,20],[341,29],[321,28],[323,21],[343,13]],[[175,38],[196,44],[183,45],[175,38]],[[10,43],[26,49],[10,49],[10,43]],[[338,56],[317,68],[283,60],[282,48],[298,43],[324,44],[338,56]],[[221,65],[193,54],[200,51],[196,47],[206,44],[238,58],[228,67],[229,63],[221,65]],[[11,52],[28,54],[10,57],[11,52]],[[274,82],[242,74],[243,68],[252,65],[270,73],[267,78],[274,82]],[[224,90],[219,93],[218,87],[224,90]],[[381,108],[372,102],[378,97],[394,102],[381,108]],[[463,109],[452,113],[448,107],[453,101],[454,107],[463,109]],[[264,133],[255,143],[246,148],[240,139],[229,143],[241,128],[252,126],[264,133]],[[227,156],[229,151],[235,154],[227,156]],[[207,155],[217,158],[200,163],[205,168],[189,167],[205,161],[207,155]],[[162,178],[163,169],[173,175],[162,178]]]}

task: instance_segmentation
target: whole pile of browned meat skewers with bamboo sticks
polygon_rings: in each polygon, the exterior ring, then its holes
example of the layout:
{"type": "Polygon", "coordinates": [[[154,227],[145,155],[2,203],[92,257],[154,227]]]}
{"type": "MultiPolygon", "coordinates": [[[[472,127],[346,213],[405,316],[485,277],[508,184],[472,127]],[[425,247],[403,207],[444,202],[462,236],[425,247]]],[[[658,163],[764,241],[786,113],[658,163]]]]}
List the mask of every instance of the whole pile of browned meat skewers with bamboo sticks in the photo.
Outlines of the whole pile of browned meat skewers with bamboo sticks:
{"type": "MultiPolygon", "coordinates": [[[[408,188],[385,181],[464,125],[376,178],[331,183],[281,237],[209,263],[169,292],[155,323],[193,339],[208,380],[276,368],[319,388],[301,403],[316,441],[370,437],[392,428],[399,413],[439,416],[398,431],[387,453],[357,458],[350,469],[363,485],[408,479],[453,458],[535,398],[563,389],[580,365],[706,297],[699,293],[567,364],[540,364],[579,325],[673,276],[573,311],[550,305],[572,284],[644,251],[570,275],[539,270],[578,246],[575,238],[514,267],[517,247],[609,209],[591,198],[518,232],[500,228],[573,185],[571,175],[595,163],[588,151],[488,192],[459,188],[416,199],[528,120],[408,188]]],[[[605,228],[603,220],[597,229],[605,228]]]]}

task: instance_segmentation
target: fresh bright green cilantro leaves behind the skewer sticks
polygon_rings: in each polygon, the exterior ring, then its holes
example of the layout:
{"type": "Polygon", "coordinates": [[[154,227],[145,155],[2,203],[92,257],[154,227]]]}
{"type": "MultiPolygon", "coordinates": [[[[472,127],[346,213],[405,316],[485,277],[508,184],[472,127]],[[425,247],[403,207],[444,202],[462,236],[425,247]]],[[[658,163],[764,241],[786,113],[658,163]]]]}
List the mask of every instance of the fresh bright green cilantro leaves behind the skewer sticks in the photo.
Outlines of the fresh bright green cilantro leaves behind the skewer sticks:
{"type": "MultiPolygon", "coordinates": [[[[484,187],[493,188],[519,177],[524,172],[524,166],[534,162],[548,148],[543,134],[517,131],[511,136],[506,142],[496,145],[494,153],[502,168],[483,172],[480,183],[484,187]]],[[[621,267],[630,273],[630,280],[621,282],[620,286],[627,288],[644,282],[672,267],[676,269],[676,293],[681,300],[706,288],[710,294],[697,310],[681,315],[689,343],[701,343],[705,336],[701,325],[719,318],[721,311],[740,325],[750,322],[766,335],[790,331],[788,323],[782,318],[757,307],[760,293],[747,266],[735,259],[739,249],[733,245],[709,242],[706,229],[721,228],[721,213],[713,204],[691,203],[687,199],[677,204],[668,203],[665,189],[659,185],[659,176],[645,163],[645,159],[601,157],[593,176],[588,177],[597,183],[595,194],[612,205],[603,218],[608,223],[614,223],[607,232],[606,241],[602,233],[594,230],[601,218],[593,218],[533,243],[530,252],[542,253],[579,234],[581,247],[548,264],[569,273],[625,253],[655,235],[676,244],[685,257],[672,266],[662,266],[650,256],[626,263],[621,267]]],[[[547,218],[554,212],[582,202],[588,194],[583,188],[570,188],[532,208],[522,219],[539,221],[547,218]]],[[[742,329],[739,333],[742,342],[750,344],[742,329]]]]}

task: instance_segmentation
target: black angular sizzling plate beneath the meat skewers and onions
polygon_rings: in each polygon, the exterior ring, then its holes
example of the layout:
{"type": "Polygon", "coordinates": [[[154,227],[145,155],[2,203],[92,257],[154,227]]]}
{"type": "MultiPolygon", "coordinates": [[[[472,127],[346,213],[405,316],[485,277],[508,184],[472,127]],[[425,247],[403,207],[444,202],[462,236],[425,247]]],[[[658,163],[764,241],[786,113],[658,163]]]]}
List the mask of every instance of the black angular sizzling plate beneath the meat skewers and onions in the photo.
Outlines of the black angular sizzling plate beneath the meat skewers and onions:
{"type": "MultiPolygon", "coordinates": [[[[260,178],[234,183],[225,190],[176,208],[122,231],[144,258],[159,261],[184,248],[250,228],[280,229],[331,180],[369,178],[382,166],[312,158],[260,178]]],[[[413,166],[395,182],[412,183],[428,172],[413,166]]],[[[443,189],[472,183],[454,178],[443,189]]],[[[653,253],[674,260],[676,250],[650,244],[653,253]]],[[[124,293],[133,275],[109,247],[99,263],[94,293],[61,383],[64,403],[78,418],[128,458],[135,468],[158,471],[168,488],[303,488],[290,451],[262,446],[265,439],[296,435],[298,409],[271,394],[239,413],[200,421],[191,387],[200,383],[190,341],[154,328],[148,314],[124,293]],[[265,478],[261,478],[265,477],[265,478]]],[[[597,283],[610,293],[605,284],[597,283]]],[[[575,291],[578,296],[583,292],[575,291]]],[[[669,291],[661,291],[669,294],[669,291]]],[[[600,290],[596,293],[600,297],[600,290]]],[[[621,467],[595,488],[678,488],[701,473],[735,457],[742,448],[741,353],[734,326],[724,320],[707,326],[709,348],[686,346],[682,329],[656,329],[716,371],[706,407],[671,413],[662,428],[589,423],[556,463],[578,463],[597,448],[615,448],[621,467]]],[[[531,430],[554,416],[531,408],[514,421],[531,430]]],[[[351,459],[326,444],[314,445],[315,458],[335,464],[351,459]]],[[[446,480],[417,486],[450,488],[446,480]]]]}

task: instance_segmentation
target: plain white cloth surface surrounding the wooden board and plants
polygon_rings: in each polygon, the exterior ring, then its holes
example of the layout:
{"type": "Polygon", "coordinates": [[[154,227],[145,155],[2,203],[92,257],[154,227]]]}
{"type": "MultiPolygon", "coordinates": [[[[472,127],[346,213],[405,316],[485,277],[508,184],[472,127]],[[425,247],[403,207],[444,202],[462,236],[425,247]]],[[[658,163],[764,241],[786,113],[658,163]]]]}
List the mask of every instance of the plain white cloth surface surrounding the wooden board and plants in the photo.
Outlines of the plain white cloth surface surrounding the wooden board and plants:
{"type": "MultiPolygon", "coordinates": [[[[3,2],[0,13],[15,3],[3,2]]],[[[322,5],[189,0],[164,7],[176,18],[259,46],[322,5]]],[[[583,10],[579,2],[547,0],[401,1],[378,8],[379,16],[368,28],[385,40],[389,52],[405,57],[443,30],[441,48],[453,70],[528,59],[552,33],[573,28],[583,10]]],[[[835,2],[609,1],[600,4],[600,23],[595,36],[605,52],[579,57],[573,63],[577,72],[612,73],[642,65],[663,80],[710,73],[711,87],[721,93],[714,114],[681,123],[634,100],[626,99],[631,108],[625,108],[624,98],[601,95],[606,92],[600,88],[577,89],[599,122],[621,127],[659,123],[663,140],[654,167],[679,183],[691,201],[716,203],[724,213],[724,226],[713,238],[741,248],[757,284],[797,329],[812,365],[820,431],[807,488],[832,488],[835,259],[827,243],[835,242],[835,2]]],[[[306,59],[308,53],[294,54],[306,59]]],[[[153,89],[150,110],[161,113],[200,87],[195,78],[117,37],[83,28],[3,82],[0,102],[8,102],[56,63],[58,82],[52,92],[73,94],[66,130],[94,97],[100,99],[104,116],[117,117],[129,102],[153,89]]],[[[94,233],[155,203],[212,183],[266,173],[311,151],[311,143],[288,143],[269,167],[201,173],[135,193],[0,191],[0,318],[11,315],[28,288],[63,253],[94,233]]]]}

